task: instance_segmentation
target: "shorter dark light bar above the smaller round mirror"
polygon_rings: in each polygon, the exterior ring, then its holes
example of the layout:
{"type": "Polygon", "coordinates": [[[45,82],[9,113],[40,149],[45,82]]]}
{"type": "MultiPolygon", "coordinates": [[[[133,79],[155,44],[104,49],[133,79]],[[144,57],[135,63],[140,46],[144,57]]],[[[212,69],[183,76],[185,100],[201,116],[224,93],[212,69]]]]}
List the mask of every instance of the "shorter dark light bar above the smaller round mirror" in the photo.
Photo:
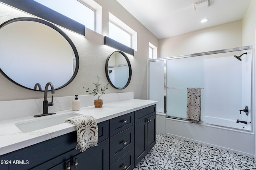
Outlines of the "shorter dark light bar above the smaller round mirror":
{"type": "Polygon", "coordinates": [[[123,45],[122,43],[119,43],[118,41],[115,41],[107,36],[104,36],[104,45],[108,45],[130,55],[134,55],[134,49],[127,47],[126,45],[123,45]]]}

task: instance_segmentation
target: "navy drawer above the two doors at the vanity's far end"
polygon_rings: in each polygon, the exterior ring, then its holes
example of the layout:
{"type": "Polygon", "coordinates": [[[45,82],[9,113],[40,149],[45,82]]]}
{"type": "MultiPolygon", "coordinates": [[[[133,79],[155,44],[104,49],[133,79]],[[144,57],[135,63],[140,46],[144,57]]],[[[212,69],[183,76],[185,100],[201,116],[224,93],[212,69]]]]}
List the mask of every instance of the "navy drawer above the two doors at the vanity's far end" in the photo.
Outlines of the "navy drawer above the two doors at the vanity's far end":
{"type": "Polygon", "coordinates": [[[135,123],[147,119],[148,117],[156,114],[156,105],[149,106],[135,111],[135,123]]]}

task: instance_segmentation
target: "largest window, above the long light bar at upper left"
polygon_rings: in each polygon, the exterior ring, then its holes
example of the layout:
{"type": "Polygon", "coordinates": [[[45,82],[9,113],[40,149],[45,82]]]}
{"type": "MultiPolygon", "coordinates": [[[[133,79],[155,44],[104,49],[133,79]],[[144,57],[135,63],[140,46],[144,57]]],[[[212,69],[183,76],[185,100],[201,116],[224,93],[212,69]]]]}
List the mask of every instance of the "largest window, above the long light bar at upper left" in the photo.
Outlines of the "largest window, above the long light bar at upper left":
{"type": "MultiPolygon", "coordinates": [[[[86,2],[93,0],[34,0],[56,12],[82,23],[96,31],[96,8],[89,8],[86,2]]],[[[94,2],[96,3],[96,2],[94,2]]],[[[99,6],[99,5],[98,5],[99,6]]],[[[101,12],[101,11],[100,11],[101,12]]],[[[100,20],[101,22],[101,20],[100,20]]],[[[100,31],[101,33],[101,31],[100,31]]]]}

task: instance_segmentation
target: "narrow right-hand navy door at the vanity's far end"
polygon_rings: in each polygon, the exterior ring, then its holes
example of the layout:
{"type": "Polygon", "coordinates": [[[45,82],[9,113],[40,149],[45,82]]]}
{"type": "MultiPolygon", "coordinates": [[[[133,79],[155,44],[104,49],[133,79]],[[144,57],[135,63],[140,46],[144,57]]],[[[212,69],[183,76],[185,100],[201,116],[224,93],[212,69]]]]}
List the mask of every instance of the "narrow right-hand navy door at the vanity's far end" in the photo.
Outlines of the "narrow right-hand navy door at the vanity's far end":
{"type": "Polygon", "coordinates": [[[156,144],[156,114],[148,118],[148,152],[156,144]]]}

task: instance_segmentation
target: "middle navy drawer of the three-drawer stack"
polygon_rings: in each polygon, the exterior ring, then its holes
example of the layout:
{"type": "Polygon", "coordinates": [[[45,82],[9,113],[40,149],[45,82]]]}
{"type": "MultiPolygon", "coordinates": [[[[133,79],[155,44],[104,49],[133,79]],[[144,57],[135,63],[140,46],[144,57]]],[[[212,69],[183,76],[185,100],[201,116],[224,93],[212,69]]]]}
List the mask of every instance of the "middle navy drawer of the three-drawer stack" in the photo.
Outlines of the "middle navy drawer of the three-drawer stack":
{"type": "Polygon", "coordinates": [[[110,165],[134,147],[134,126],[110,138],[110,165]]]}

